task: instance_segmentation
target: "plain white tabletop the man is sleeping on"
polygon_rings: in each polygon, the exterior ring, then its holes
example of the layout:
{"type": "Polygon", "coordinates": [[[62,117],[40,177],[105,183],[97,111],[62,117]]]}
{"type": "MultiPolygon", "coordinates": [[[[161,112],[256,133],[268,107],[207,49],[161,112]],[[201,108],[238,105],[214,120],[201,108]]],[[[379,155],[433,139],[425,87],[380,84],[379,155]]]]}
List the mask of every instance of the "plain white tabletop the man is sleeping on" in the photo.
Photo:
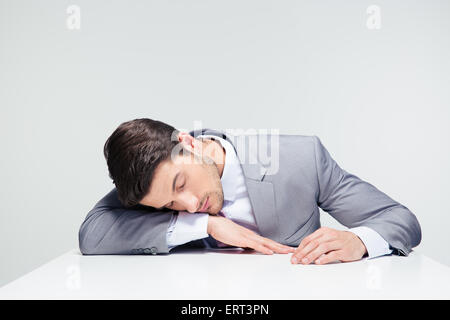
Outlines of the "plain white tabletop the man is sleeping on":
{"type": "Polygon", "coordinates": [[[0,288],[0,299],[450,299],[450,268],[424,255],[292,265],[289,255],[72,250],[0,288]]]}

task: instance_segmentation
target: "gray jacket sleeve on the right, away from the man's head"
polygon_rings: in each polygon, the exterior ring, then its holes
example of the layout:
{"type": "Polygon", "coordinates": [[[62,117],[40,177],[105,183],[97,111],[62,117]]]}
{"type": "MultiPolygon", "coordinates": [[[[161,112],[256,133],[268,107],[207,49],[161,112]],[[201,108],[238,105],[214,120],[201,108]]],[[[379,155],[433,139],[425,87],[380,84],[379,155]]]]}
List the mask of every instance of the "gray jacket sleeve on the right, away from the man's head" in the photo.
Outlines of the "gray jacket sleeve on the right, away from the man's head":
{"type": "Polygon", "coordinates": [[[416,216],[375,186],[341,169],[317,136],[313,136],[319,207],[349,228],[378,232],[394,254],[407,256],[422,234],[416,216]]]}

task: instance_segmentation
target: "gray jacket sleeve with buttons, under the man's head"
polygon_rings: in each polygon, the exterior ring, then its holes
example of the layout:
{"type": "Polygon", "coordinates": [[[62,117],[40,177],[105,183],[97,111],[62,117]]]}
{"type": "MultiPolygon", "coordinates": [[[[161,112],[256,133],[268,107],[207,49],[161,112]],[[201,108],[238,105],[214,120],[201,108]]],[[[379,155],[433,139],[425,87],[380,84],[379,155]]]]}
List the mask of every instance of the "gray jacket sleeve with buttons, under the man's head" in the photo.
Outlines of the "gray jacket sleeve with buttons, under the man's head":
{"type": "Polygon", "coordinates": [[[114,188],[82,223],[80,251],[84,255],[168,253],[166,235],[173,214],[140,205],[125,208],[114,188]]]}

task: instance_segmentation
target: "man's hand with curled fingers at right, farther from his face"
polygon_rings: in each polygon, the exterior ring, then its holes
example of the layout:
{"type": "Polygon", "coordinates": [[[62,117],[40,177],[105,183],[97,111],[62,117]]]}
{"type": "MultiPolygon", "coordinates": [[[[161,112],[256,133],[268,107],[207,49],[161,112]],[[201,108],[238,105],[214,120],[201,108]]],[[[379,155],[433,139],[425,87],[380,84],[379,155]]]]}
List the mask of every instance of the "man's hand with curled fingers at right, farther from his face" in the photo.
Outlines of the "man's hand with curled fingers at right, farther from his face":
{"type": "Polygon", "coordinates": [[[291,263],[355,261],[366,253],[366,246],[354,233],[322,227],[303,239],[292,255],[291,263]]]}

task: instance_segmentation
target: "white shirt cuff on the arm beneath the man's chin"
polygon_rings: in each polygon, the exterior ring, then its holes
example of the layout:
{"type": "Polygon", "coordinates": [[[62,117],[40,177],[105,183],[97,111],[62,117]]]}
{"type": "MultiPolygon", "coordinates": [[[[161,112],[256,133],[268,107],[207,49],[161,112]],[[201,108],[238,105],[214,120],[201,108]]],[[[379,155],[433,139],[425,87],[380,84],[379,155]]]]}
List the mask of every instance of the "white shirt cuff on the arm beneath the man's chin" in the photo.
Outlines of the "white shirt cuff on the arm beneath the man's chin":
{"type": "Polygon", "coordinates": [[[208,216],[207,213],[186,211],[180,211],[178,215],[174,215],[175,218],[170,221],[167,230],[169,250],[190,241],[208,238],[208,216]]]}

